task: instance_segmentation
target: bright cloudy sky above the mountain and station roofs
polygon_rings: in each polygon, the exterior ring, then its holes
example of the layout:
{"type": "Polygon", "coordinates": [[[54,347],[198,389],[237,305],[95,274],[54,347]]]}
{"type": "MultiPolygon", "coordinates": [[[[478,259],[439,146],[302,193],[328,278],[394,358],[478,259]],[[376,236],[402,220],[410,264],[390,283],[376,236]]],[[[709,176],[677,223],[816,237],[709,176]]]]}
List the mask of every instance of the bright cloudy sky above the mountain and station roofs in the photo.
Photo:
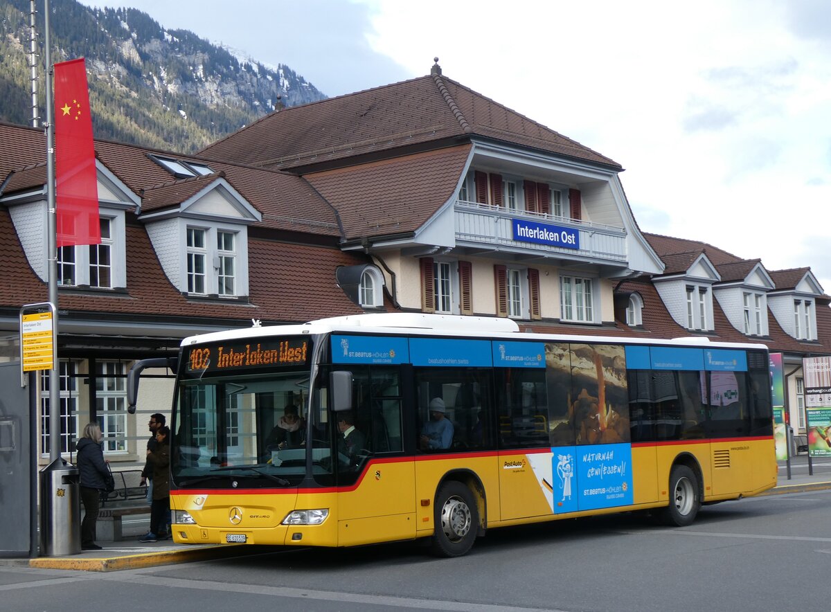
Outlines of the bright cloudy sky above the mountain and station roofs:
{"type": "Polygon", "coordinates": [[[439,56],[445,76],[622,164],[643,231],[810,266],[831,294],[827,0],[121,2],[330,96],[439,56]]]}

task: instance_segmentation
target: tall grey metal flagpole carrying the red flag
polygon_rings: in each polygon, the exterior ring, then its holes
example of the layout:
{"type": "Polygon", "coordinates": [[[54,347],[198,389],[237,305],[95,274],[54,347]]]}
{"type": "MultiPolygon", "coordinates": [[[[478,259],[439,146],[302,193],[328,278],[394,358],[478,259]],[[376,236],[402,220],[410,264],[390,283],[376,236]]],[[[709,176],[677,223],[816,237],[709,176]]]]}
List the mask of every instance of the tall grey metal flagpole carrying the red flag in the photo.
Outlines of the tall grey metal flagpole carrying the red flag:
{"type": "MultiPolygon", "coordinates": [[[[49,244],[49,301],[55,307],[52,321],[55,338],[58,335],[57,312],[57,209],[55,204],[55,125],[54,105],[52,103],[52,48],[49,41],[49,0],[43,0],[43,42],[46,61],[47,94],[47,242],[49,244]]],[[[60,364],[57,360],[49,372],[49,460],[61,458],[61,377],[58,373],[60,364]]]]}

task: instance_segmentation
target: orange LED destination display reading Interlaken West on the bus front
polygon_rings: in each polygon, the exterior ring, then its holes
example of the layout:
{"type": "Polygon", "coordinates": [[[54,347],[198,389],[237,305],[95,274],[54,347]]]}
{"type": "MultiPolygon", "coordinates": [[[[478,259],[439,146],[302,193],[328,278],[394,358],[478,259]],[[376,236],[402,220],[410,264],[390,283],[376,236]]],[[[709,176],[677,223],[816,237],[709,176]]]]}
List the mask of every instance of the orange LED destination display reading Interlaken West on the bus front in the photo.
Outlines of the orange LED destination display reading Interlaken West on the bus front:
{"type": "Polygon", "coordinates": [[[194,346],[185,368],[190,373],[261,369],[266,366],[307,365],[310,350],[307,338],[233,340],[216,345],[194,346]]]}

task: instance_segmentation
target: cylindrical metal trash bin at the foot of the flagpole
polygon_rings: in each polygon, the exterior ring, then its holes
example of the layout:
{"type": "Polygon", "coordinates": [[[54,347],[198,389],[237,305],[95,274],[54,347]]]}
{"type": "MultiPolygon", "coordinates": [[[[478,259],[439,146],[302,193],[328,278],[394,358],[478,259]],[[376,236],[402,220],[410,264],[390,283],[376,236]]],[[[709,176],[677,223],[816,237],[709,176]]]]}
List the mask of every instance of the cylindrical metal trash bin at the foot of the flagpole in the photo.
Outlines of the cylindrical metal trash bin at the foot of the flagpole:
{"type": "Polygon", "coordinates": [[[41,470],[41,555],[81,552],[81,485],[78,468],[62,458],[41,470]]]}

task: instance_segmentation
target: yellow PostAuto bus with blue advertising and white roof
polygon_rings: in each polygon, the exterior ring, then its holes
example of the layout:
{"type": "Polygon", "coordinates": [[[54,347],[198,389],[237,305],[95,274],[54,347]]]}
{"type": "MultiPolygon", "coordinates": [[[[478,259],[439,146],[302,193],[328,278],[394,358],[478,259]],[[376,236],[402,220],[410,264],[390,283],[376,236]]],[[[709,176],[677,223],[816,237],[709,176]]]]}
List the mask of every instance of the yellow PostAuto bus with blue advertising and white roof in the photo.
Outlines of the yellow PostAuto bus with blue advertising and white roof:
{"type": "Polygon", "coordinates": [[[430,538],[460,556],[488,529],[561,518],[650,511],[685,526],[777,471],[764,345],[486,317],[187,338],[171,431],[172,532],[192,544],[430,538]]]}

